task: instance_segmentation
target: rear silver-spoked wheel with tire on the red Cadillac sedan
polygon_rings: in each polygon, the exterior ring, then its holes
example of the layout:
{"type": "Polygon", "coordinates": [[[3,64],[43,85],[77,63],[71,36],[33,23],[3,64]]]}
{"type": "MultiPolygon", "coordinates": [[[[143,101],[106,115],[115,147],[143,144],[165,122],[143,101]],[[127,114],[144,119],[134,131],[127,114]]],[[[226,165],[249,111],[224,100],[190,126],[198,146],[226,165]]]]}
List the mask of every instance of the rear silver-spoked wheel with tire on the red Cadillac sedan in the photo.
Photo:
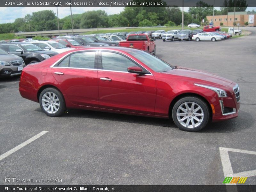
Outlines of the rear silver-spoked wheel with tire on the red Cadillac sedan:
{"type": "Polygon", "coordinates": [[[52,87],[46,88],[40,93],[39,103],[47,116],[57,117],[62,115],[66,110],[62,93],[52,87]]]}

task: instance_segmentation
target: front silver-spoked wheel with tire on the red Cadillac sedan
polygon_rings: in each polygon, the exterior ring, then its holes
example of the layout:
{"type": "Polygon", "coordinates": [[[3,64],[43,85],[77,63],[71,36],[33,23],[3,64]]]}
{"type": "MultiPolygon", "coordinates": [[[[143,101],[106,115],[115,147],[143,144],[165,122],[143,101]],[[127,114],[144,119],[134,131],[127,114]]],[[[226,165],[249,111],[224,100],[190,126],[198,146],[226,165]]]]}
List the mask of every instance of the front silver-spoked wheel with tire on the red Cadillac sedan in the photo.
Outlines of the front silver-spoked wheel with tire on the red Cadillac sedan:
{"type": "Polygon", "coordinates": [[[183,131],[196,132],[203,129],[209,117],[207,104],[197,97],[183,97],[172,108],[172,119],[183,131]]]}

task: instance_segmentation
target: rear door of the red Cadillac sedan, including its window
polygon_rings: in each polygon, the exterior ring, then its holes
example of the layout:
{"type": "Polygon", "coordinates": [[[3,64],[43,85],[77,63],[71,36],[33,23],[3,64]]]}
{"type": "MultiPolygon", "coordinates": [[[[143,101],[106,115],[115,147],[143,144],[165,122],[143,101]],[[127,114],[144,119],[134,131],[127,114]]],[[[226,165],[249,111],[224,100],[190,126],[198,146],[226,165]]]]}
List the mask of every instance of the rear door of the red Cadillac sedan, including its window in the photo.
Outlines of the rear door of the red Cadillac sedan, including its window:
{"type": "Polygon", "coordinates": [[[99,107],[97,55],[98,51],[75,52],[52,67],[61,92],[75,105],[99,107]]]}

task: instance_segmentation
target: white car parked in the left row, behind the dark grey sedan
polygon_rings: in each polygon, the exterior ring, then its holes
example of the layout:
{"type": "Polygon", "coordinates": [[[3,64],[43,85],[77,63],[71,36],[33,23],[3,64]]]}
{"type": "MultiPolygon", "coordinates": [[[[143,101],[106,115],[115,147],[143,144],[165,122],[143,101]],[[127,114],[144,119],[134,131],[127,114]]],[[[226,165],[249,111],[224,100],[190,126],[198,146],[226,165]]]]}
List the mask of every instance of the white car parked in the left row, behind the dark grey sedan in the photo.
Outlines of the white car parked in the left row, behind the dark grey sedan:
{"type": "Polygon", "coordinates": [[[71,48],[71,47],[66,47],[63,44],[60,44],[56,41],[30,41],[31,44],[34,44],[38,47],[40,47],[41,49],[45,50],[45,51],[55,51],[57,53],[63,53],[65,51],[70,51],[73,50],[75,48],[71,48]]]}

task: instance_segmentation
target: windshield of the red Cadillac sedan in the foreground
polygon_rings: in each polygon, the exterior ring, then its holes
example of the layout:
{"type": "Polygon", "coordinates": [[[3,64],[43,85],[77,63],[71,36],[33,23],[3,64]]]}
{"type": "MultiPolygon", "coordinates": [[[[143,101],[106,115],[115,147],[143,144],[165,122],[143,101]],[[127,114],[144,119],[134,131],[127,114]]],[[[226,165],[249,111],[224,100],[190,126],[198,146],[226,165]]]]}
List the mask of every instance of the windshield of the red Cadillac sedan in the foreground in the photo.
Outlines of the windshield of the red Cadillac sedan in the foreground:
{"type": "Polygon", "coordinates": [[[173,68],[170,64],[147,52],[133,51],[129,53],[156,72],[166,72],[173,68]]]}

